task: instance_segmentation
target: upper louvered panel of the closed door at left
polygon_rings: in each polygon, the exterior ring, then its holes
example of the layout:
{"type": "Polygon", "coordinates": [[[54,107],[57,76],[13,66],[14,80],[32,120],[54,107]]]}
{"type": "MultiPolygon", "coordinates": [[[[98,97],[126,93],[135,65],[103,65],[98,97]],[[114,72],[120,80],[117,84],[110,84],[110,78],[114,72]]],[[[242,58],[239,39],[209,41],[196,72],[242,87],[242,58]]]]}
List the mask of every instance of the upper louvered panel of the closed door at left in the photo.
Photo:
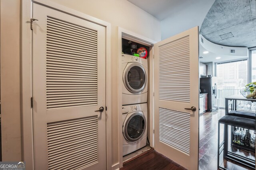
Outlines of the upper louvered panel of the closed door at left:
{"type": "Polygon", "coordinates": [[[47,110],[98,103],[97,31],[47,17],[47,110]]]}

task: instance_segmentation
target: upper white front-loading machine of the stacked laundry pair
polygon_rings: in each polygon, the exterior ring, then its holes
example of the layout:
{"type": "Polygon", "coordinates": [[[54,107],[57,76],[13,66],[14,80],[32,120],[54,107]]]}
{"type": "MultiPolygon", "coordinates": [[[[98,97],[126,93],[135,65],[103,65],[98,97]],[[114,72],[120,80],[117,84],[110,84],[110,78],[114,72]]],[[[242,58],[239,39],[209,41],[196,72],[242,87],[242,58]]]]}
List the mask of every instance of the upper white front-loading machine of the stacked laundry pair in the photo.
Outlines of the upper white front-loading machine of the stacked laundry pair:
{"type": "Polygon", "coordinates": [[[122,105],[146,103],[148,100],[148,61],[122,54],[122,105]]]}

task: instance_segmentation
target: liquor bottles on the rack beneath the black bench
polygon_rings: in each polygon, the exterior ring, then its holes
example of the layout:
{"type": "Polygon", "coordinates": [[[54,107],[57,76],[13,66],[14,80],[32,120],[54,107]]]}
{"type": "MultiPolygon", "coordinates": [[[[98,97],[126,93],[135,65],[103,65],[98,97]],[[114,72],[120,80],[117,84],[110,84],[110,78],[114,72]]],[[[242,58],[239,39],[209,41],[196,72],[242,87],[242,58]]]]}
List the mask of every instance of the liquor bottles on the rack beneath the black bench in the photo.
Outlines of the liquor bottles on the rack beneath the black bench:
{"type": "Polygon", "coordinates": [[[234,132],[233,132],[234,143],[255,149],[255,138],[256,138],[256,131],[254,131],[252,136],[248,129],[246,129],[245,131],[244,128],[234,127],[234,132]]]}

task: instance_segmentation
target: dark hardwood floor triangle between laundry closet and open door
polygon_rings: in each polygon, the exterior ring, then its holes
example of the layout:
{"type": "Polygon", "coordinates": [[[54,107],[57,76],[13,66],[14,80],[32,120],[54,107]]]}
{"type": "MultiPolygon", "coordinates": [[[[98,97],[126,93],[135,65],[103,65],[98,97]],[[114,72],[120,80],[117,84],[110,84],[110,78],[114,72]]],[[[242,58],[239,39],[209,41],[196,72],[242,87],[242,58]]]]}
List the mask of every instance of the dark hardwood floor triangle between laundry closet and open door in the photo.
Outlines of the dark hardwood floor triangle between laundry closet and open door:
{"type": "Polygon", "coordinates": [[[142,156],[124,164],[120,170],[186,170],[166,156],[150,150],[142,156]]]}

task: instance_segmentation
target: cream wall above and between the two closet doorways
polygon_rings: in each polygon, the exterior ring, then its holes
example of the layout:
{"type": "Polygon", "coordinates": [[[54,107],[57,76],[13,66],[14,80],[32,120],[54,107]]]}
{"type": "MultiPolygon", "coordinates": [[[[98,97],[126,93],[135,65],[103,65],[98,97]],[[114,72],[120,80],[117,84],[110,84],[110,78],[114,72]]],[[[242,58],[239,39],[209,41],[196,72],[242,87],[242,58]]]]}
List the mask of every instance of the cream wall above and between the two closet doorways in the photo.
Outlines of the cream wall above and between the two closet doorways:
{"type": "Polygon", "coordinates": [[[112,165],[119,162],[118,157],[118,113],[117,113],[117,57],[118,32],[122,27],[134,33],[160,41],[160,21],[134,6],[127,0],[52,0],[74,10],[83,12],[100,20],[111,23],[111,56],[112,56],[112,165]]]}

